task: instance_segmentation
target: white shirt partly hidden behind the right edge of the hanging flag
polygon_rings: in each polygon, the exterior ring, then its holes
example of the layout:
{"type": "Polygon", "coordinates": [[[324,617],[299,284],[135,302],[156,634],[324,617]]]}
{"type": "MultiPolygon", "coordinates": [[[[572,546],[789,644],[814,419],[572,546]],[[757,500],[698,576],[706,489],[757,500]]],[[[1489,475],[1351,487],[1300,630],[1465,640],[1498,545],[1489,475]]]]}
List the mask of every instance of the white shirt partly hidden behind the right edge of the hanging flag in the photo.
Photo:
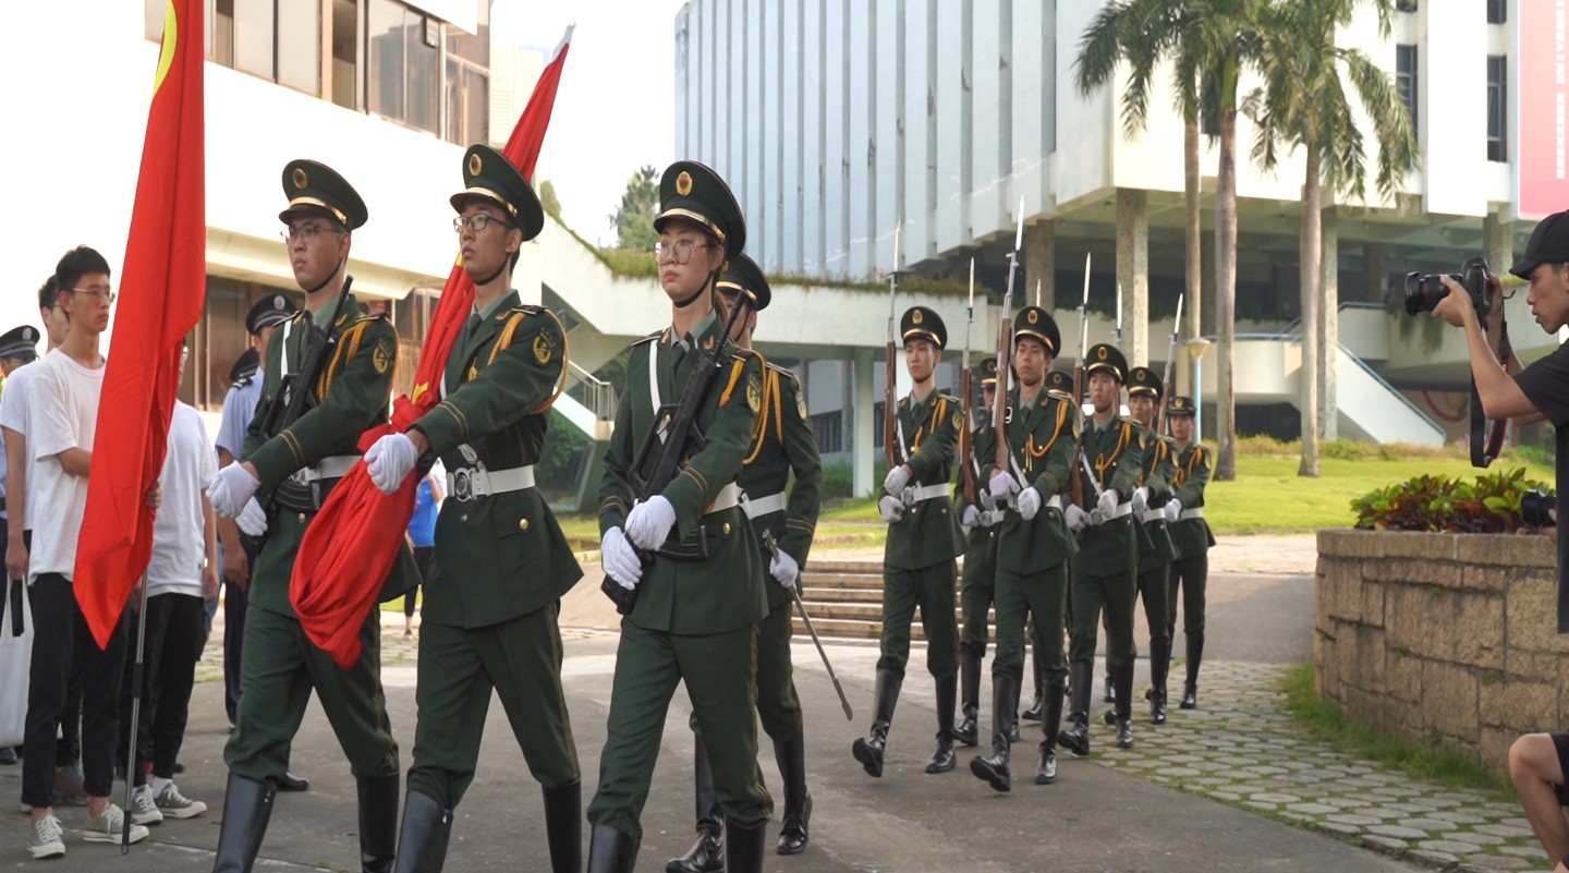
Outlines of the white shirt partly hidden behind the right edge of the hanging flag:
{"type": "Polygon", "coordinates": [[[201,413],[176,400],[174,418],[169,421],[169,447],[163,457],[163,473],[158,474],[163,504],[152,524],[147,597],[202,595],[201,565],[207,557],[207,537],[201,495],[217,474],[217,452],[207,441],[201,413]]]}

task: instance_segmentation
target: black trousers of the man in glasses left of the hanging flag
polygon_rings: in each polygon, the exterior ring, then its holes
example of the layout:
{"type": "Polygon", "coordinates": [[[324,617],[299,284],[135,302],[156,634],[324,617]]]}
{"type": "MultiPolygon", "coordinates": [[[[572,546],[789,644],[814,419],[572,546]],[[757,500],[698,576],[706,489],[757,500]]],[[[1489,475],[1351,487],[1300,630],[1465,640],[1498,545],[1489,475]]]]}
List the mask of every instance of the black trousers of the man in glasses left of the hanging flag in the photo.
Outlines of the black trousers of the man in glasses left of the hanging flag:
{"type": "Polygon", "coordinates": [[[27,686],[27,740],[22,762],[22,802],[52,805],[55,787],[55,732],[66,713],[72,661],[82,670],[82,773],[86,793],[107,798],[115,787],[115,740],[119,736],[119,686],[126,658],[129,611],[99,648],[77,606],[71,579],[60,573],[38,576],[28,590],[33,601],[33,664],[27,686]]]}

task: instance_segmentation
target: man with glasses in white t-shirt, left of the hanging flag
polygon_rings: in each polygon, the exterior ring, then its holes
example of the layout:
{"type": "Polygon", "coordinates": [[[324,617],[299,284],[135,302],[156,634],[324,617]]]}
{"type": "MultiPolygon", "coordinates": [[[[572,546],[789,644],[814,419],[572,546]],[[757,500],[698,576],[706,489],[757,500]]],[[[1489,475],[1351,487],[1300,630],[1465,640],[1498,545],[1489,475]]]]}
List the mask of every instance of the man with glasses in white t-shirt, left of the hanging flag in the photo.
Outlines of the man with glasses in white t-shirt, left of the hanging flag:
{"type": "MultiPolygon", "coordinates": [[[[83,838],[118,843],[126,815],[108,796],[115,787],[118,702],[129,611],[121,614],[108,645],[100,650],[71,583],[77,562],[77,535],[82,532],[88,502],[97,404],[104,389],[99,336],[108,330],[115,292],[108,262],[85,245],[60,259],[55,278],[60,281],[60,306],[69,328],[58,349],[28,367],[35,372],[27,404],[27,451],[36,462],[31,482],[36,512],[28,515],[33,526],[27,567],[33,601],[33,663],[28,674],[22,802],[33,807],[27,837],[33,857],[60,857],[66,853],[50,790],[55,732],[60,727],[72,659],[82,669],[82,771],[88,793],[83,838]]],[[[154,485],[147,491],[147,502],[157,506],[157,501],[158,488],[154,485]]],[[[147,837],[147,829],[132,824],[129,837],[132,843],[141,842],[147,837]]]]}

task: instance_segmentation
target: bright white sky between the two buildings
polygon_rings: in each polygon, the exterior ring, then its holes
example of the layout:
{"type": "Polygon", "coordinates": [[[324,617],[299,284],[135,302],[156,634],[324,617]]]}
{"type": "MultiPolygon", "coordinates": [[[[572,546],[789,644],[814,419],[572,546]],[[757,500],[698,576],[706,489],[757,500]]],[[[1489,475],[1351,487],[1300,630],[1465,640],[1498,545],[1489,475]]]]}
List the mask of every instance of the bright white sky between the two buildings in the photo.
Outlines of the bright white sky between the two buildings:
{"type": "Polygon", "coordinates": [[[639,166],[664,170],[675,160],[675,17],[683,5],[496,0],[491,8],[497,38],[546,53],[577,24],[537,181],[555,185],[566,225],[590,242],[615,242],[610,215],[639,166]]]}

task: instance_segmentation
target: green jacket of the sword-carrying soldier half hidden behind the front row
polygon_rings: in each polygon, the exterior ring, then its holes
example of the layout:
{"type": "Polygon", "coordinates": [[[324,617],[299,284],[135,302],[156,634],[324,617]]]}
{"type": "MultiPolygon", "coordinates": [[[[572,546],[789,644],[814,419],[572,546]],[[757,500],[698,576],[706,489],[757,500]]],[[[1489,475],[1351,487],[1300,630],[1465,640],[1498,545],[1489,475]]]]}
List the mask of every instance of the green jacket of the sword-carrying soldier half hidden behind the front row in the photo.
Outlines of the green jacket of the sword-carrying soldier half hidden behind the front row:
{"type": "MultiPolygon", "coordinates": [[[[800,393],[795,374],[774,364],[766,366],[763,405],[752,433],[752,454],[737,479],[748,498],[784,491],[791,471],[795,471],[795,485],[784,512],[759,515],[752,520],[752,528],[759,543],[764,531],[772,532],[780,551],[805,568],[811,537],[817,531],[817,512],[822,509],[822,460],[817,457],[817,438],[806,424],[806,397],[800,393]]],[[[766,548],[763,554],[763,570],[767,572],[766,548]]],[[[789,603],[789,590],[772,576],[764,579],[763,587],[769,592],[770,611],[789,603]]]]}

